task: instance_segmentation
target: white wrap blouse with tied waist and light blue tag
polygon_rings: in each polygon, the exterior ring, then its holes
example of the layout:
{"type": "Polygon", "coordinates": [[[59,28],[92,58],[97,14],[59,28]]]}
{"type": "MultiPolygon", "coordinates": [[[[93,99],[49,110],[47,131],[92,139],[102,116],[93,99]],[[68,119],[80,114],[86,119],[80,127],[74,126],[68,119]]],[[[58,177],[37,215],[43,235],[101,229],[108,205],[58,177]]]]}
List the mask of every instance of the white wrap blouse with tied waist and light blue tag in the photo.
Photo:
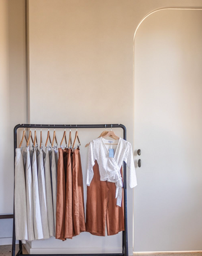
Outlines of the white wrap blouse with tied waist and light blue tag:
{"type": "Polygon", "coordinates": [[[100,180],[114,182],[116,184],[117,205],[121,207],[123,183],[120,169],[123,161],[129,168],[128,181],[130,188],[134,188],[137,185],[131,144],[122,138],[118,140],[106,140],[100,137],[92,140],[89,145],[88,153],[88,171],[86,181],[88,186],[90,186],[90,182],[93,179],[93,166],[95,164],[95,160],[98,162],[100,180]],[[116,141],[118,142],[118,145],[116,149],[114,149],[114,146],[110,144],[114,144],[116,141]],[[105,143],[109,144],[109,147],[114,149],[113,157],[109,157],[108,145],[105,145],[105,143]]]}

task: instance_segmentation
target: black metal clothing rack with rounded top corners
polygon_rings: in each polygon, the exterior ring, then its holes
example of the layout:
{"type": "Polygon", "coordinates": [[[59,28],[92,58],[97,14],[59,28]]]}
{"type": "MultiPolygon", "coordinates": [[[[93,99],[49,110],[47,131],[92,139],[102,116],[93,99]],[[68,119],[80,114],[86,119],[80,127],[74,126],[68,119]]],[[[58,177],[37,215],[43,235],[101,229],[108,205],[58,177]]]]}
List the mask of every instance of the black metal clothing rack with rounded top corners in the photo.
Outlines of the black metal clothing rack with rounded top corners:
{"type": "MultiPolygon", "coordinates": [[[[16,125],[14,128],[14,167],[15,167],[15,151],[17,148],[17,129],[19,128],[46,128],[46,129],[90,129],[90,128],[122,128],[123,139],[126,140],[126,127],[121,124],[108,124],[108,125],[36,125],[36,124],[21,124],[16,125]]],[[[124,221],[125,231],[122,231],[122,253],[98,253],[98,254],[22,254],[22,241],[19,241],[18,255],[34,255],[34,256],[128,256],[128,236],[127,236],[127,190],[126,190],[126,163],[123,163],[123,193],[124,193],[124,221]]],[[[14,188],[15,189],[15,188],[14,188]]],[[[13,196],[13,236],[12,236],[12,256],[15,256],[15,202],[13,196]]]]}

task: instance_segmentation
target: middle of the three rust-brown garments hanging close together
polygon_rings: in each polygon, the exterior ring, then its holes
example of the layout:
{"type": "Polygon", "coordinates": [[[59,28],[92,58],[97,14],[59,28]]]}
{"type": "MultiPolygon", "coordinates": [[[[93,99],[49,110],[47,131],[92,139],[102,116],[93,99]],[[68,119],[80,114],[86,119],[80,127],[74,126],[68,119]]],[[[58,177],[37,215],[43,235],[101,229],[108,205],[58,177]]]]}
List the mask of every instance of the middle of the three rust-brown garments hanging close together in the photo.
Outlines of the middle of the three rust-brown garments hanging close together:
{"type": "Polygon", "coordinates": [[[72,218],[72,150],[67,149],[67,177],[66,177],[66,203],[65,203],[65,238],[74,236],[72,218]]]}

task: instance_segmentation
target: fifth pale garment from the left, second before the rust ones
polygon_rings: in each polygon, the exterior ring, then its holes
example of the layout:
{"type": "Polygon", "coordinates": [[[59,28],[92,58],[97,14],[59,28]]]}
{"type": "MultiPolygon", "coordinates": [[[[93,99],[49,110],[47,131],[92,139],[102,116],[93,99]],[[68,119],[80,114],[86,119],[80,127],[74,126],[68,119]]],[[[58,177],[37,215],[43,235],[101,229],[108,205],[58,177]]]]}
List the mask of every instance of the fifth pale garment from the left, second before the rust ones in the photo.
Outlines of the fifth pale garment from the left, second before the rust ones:
{"type": "Polygon", "coordinates": [[[50,168],[50,159],[49,152],[51,149],[45,148],[45,161],[44,161],[44,171],[45,171],[45,194],[47,201],[47,215],[48,215],[48,230],[49,235],[54,236],[54,218],[53,218],[53,196],[51,188],[51,168],[50,168]]]}

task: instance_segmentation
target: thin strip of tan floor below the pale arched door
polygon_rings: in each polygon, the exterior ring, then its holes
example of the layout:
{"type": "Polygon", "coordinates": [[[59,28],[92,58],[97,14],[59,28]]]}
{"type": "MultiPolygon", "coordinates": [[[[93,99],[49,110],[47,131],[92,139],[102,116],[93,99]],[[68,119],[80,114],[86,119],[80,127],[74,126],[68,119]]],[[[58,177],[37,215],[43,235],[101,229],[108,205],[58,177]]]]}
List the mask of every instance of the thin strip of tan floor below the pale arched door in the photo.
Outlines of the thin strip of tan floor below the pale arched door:
{"type": "Polygon", "coordinates": [[[179,252],[137,252],[134,256],[201,256],[202,251],[179,251],[179,252]]]}

